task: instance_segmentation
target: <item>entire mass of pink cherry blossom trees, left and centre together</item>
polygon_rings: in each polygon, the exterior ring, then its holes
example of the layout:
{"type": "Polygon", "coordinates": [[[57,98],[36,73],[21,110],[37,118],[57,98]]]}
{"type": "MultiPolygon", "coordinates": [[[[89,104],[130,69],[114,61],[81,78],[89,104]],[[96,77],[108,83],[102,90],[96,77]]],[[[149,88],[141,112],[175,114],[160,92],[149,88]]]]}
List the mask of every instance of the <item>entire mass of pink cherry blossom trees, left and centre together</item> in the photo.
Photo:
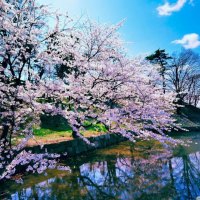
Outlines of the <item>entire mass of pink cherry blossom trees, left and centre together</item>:
{"type": "Polygon", "coordinates": [[[66,118],[73,136],[89,144],[80,134],[86,121],[131,141],[176,143],[165,135],[176,126],[173,94],[154,84],[159,75],[149,63],[126,56],[117,32],[122,22],[86,20],[74,27],[70,21],[35,0],[0,2],[0,179],[14,174],[18,164],[39,173],[55,164],[57,155],[24,150],[41,114],[66,118]],[[55,26],[48,25],[49,17],[55,26]],[[13,146],[18,135],[25,139],[13,146]]]}

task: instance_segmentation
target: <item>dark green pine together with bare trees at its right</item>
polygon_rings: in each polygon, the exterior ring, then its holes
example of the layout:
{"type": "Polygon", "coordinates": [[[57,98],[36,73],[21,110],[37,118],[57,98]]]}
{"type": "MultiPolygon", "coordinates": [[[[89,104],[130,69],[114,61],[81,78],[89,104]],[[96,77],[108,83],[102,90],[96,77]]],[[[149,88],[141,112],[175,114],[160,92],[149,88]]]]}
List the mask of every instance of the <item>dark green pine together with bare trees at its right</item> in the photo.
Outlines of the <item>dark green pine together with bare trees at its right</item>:
{"type": "Polygon", "coordinates": [[[160,74],[160,84],[163,92],[173,91],[175,102],[187,103],[195,107],[200,100],[200,55],[192,50],[182,49],[172,55],[165,49],[158,49],[146,57],[157,66],[160,74]]]}

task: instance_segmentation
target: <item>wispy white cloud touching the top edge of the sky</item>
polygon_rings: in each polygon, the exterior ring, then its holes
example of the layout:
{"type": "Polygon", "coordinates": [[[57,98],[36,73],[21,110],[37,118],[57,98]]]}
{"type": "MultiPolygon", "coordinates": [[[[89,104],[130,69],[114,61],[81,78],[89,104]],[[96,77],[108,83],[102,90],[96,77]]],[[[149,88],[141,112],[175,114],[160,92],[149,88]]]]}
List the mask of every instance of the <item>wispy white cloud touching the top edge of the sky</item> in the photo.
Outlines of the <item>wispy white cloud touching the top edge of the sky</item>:
{"type": "MultiPolygon", "coordinates": [[[[162,16],[169,16],[173,12],[177,12],[181,10],[181,8],[185,5],[187,1],[188,0],[178,0],[174,4],[170,4],[169,2],[166,2],[164,5],[157,7],[158,14],[162,16]]],[[[190,0],[189,2],[192,2],[192,1],[190,0]]]]}

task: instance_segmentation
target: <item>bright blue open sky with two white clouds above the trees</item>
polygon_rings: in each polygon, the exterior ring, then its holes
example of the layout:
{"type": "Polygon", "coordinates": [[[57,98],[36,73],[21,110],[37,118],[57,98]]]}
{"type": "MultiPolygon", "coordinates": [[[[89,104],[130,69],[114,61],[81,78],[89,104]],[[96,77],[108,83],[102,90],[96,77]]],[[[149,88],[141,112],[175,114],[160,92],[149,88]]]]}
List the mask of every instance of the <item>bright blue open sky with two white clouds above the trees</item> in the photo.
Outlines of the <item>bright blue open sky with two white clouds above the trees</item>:
{"type": "Polygon", "coordinates": [[[200,0],[39,0],[70,16],[114,24],[130,55],[190,48],[200,53],[200,0]],[[174,41],[174,42],[172,42],[174,41]]]}

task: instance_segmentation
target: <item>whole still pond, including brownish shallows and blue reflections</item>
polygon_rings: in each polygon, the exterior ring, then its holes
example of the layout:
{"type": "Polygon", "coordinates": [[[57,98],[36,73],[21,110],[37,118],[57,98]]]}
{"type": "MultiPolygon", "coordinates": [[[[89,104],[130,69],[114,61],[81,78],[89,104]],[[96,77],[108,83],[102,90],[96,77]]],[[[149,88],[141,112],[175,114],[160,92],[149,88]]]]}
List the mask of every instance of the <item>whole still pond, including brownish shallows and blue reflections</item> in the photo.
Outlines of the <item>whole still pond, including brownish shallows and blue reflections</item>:
{"type": "MultiPolygon", "coordinates": [[[[180,137],[179,137],[180,138],[180,137]]],[[[0,199],[106,200],[196,199],[200,196],[200,134],[173,155],[150,141],[123,142],[62,161],[68,171],[48,170],[0,186],[0,199]]]]}

